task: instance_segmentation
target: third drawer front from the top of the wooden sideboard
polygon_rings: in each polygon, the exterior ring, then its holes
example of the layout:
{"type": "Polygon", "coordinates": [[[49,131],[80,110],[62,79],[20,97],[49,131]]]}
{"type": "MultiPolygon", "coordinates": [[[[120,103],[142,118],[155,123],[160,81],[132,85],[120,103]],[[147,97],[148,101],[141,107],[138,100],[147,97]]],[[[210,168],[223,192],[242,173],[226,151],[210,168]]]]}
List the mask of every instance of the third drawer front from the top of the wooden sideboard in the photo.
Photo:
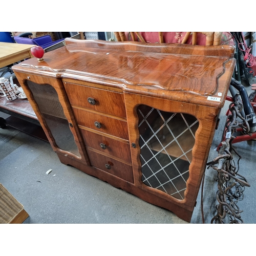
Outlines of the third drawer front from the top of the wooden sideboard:
{"type": "Polygon", "coordinates": [[[88,132],[80,129],[86,146],[95,148],[95,150],[118,157],[126,162],[131,163],[130,145],[118,140],[88,132]]]}

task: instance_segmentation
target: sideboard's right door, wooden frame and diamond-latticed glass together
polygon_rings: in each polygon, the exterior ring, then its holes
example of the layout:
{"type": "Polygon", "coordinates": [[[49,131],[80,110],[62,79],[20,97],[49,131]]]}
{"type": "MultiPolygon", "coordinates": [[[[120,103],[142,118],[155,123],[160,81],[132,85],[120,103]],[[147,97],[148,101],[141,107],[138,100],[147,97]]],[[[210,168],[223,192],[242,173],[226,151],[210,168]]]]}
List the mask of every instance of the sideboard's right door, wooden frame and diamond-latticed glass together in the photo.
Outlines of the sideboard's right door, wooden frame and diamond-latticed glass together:
{"type": "Polygon", "coordinates": [[[135,185],[193,212],[219,110],[132,93],[124,97],[135,185]]]}

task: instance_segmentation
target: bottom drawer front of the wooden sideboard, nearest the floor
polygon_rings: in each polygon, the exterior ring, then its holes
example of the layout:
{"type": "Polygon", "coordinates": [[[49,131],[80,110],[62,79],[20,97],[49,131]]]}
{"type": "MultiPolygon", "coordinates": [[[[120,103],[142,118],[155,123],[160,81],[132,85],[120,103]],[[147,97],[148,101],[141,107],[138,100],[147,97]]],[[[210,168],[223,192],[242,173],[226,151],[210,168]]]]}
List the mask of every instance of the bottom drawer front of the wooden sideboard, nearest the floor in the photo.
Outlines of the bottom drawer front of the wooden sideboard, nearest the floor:
{"type": "Polygon", "coordinates": [[[91,150],[87,150],[88,156],[91,161],[91,165],[113,174],[123,180],[134,182],[133,181],[133,169],[131,165],[119,162],[115,159],[103,156],[91,150]]]}

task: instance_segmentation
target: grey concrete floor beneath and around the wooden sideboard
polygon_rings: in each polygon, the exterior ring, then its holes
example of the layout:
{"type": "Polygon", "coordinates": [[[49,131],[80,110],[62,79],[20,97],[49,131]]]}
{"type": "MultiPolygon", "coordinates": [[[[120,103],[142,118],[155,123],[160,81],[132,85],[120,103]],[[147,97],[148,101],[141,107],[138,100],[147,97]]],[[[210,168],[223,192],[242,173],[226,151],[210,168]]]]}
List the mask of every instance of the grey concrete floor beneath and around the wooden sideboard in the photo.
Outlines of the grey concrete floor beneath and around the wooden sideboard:
{"type": "MultiPolygon", "coordinates": [[[[253,78],[255,79],[255,78],[253,78]]],[[[249,87],[246,88],[251,92],[249,87]]],[[[208,162],[218,156],[226,121],[226,101],[220,115],[208,162]]],[[[0,117],[8,115],[0,112],[0,117]]],[[[255,141],[234,144],[241,155],[239,173],[250,187],[238,203],[245,223],[256,223],[255,141]]],[[[233,154],[234,159],[237,156],[233,154]]],[[[237,164],[236,164],[237,166],[237,164]]],[[[207,169],[203,208],[205,223],[215,215],[217,172],[207,169]]],[[[187,223],[172,212],[146,203],[106,182],[60,163],[48,142],[7,127],[0,129],[0,182],[24,205],[29,218],[24,223],[187,223]],[[47,170],[52,169],[50,174],[47,170]]],[[[191,223],[202,223],[201,190],[191,223]]]]}

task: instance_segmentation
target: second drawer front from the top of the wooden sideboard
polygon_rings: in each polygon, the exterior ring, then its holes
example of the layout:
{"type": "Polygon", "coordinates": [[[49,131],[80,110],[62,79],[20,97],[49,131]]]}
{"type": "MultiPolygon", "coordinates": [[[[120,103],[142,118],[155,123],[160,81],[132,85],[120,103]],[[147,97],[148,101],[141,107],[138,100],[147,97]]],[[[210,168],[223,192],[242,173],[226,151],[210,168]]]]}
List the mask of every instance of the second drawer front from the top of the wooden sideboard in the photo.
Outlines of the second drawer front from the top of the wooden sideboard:
{"type": "Polygon", "coordinates": [[[88,127],[97,132],[102,132],[129,140],[126,121],[75,108],[73,108],[73,112],[79,125],[88,127]],[[95,122],[100,124],[100,128],[95,126],[95,122]]]}

